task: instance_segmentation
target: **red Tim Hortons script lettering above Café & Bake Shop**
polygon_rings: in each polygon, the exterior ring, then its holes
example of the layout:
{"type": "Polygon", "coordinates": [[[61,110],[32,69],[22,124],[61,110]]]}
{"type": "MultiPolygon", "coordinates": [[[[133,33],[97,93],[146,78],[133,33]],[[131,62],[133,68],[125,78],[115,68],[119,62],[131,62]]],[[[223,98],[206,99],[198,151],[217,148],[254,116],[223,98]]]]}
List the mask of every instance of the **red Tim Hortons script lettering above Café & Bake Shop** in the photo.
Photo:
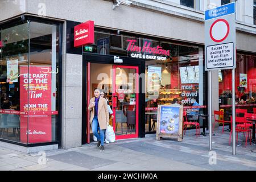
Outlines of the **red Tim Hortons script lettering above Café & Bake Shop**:
{"type": "Polygon", "coordinates": [[[160,46],[151,47],[151,42],[144,42],[143,47],[135,46],[135,43],[137,40],[127,40],[128,46],[127,51],[133,51],[133,52],[142,52],[142,53],[152,53],[154,55],[165,55],[170,56],[170,50],[164,50],[160,46]]]}

